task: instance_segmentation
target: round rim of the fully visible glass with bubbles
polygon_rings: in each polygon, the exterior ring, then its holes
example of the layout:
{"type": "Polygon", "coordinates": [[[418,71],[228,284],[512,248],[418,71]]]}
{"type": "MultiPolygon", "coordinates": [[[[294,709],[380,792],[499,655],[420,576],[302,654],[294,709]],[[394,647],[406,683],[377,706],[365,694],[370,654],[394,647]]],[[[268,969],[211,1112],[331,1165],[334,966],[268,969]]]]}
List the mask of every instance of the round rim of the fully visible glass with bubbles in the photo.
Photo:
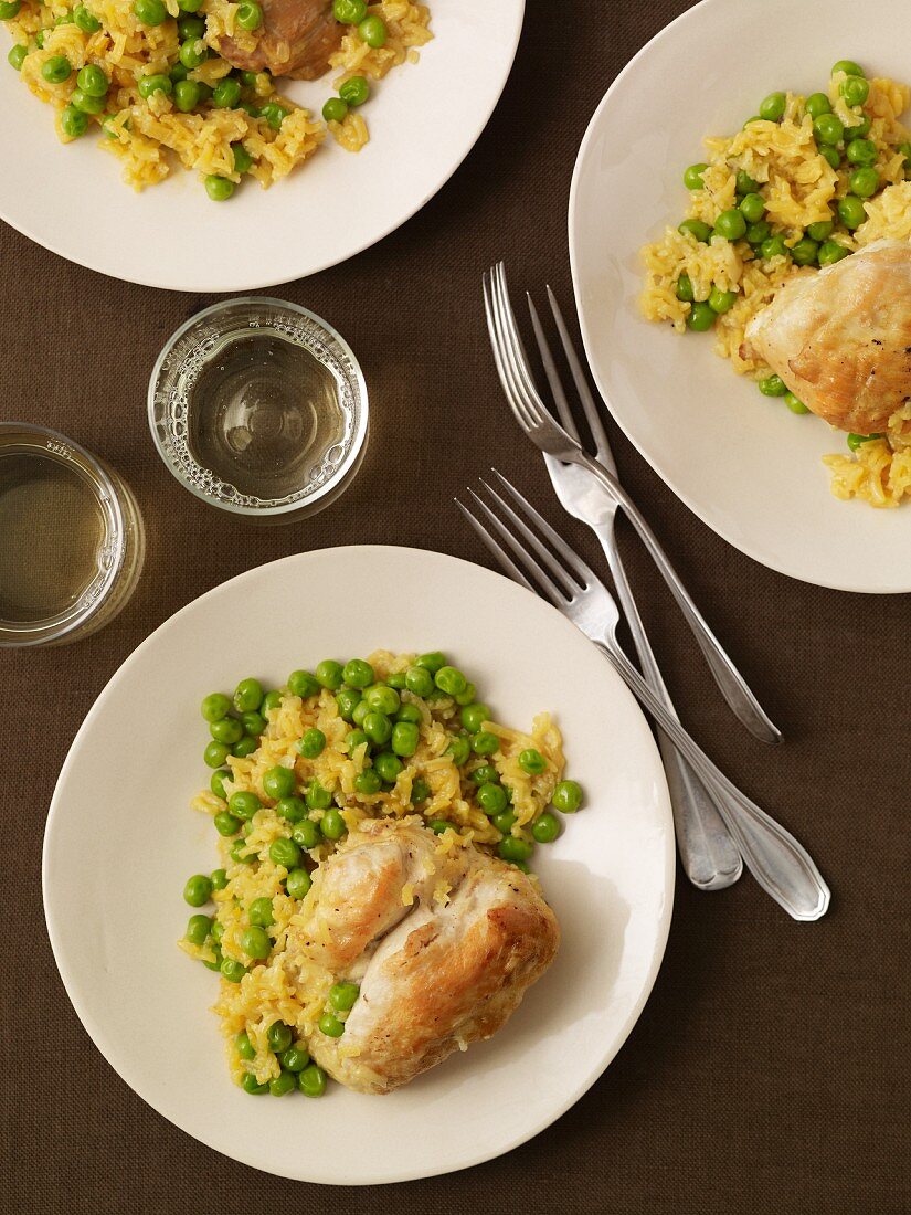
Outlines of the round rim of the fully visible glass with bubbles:
{"type": "MultiPolygon", "coordinates": [[[[318,316],[310,309],[304,307],[302,304],[294,304],[292,300],[281,300],[275,295],[234,295],[231,299],[219,300],[215,304],[210,304],[209,307],[204,307],[199,312],[194,312],[188,321],[185,321],[174,330],[174,333],[166,339],[166,341],[162,346],[162,350],[158,355],[158,358],[155,358],[155,363],[154,367],[152,368],[152,374],[148,380],[148,392],[146,400],[147,400],[147,412],[148,412],[148,428],[152,431],[152,441],[155,445],[155,451],[162,458],[162,463],[165,465],[171,476],[180,485],[182,485],[185,490],[188,490],[189,493],[192,493],[193,497],[198,498],[200,502],[205,502],[208,503],[208,505],[215,507],[217,510],[226,510],[228,514],[242,515],[245,519],[276,519],[282,515],[289,515],[289,514],[293,515],[300,510],[307,509],[311,505],[322,502],[322,499],[327,497],[329,497],[329,502],[332,502],[335,497],[338,497],[341,492],[344,492],[349,480],[360,468],[361,459],[363,457],[364,441],[367,439],[367,431],[369,425],[369,400],[367,394],[367,380],[364,379],[364,374],[361,368],[361,362],[355,355],[351,346],[347,344],[347,341],[345,341],[339,330],[334,326],[329,324],[328,321],[324,321],[323,317],[318,316]],[[155,418],[155,388],[158,384],[158,379],[162,374],[165,358],[171,352],[171,350],[180,340],[180,338],[182,338],[185,333],[188,333],[189,329],[193,328],[193,326],[199,323],[199,321],[206,317],[210,317],[217,312],[226,312],[230,309],[236,307],[238,305],[249,306],[251,304],[265,304],[265,305],[272,305],[275,307],[289,309],[292,312],[296,312],[299,316],[305,316],[310,321],[313,321],[317,326],[319,326],[321,329],[328,333],[329,337],[339,344],[343,352],[347,355],[347,357],[351,360],[351,366],[353,367],[355,372],[355,380],[357,383],[357,389],[361,395],[361,402],[362,402],[361,417],[358,420],[357,431],[352,439],[351,450],[345,457],[335,476],[330,477],[330,480],[327,481],[326,485],[321,486],[309,497],[299,498],[296,502],[285,502],[282,505],[276,505],[276,507],[238,505],[237,503],[233,502],[225,502],[221,498],[215,498],[211,495],[205,493],[198,486],[192,485],[170,459],[164,445],[162,443],[158,436],[158,426],[155,418]]],[[[327,502],[324,504],[328,505],[329,503],[327,502]]]]}

